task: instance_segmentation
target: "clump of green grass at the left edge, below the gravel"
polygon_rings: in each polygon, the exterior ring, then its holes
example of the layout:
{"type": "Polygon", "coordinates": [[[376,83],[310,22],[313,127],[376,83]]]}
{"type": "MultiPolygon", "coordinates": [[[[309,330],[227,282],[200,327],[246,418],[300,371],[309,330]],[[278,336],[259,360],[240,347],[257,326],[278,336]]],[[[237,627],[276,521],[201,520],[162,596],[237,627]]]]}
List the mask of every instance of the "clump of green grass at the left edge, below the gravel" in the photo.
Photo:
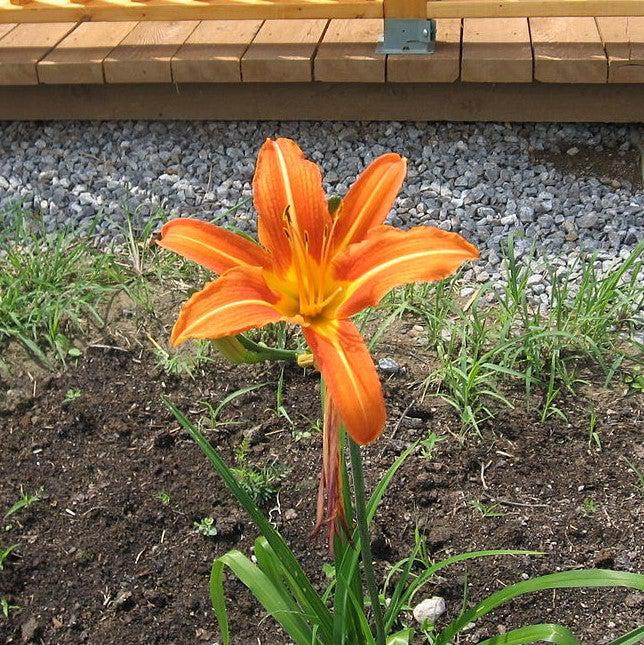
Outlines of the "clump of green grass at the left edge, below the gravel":
{"type": "Polygon", "coordinates": [[[103,326],[100,306],[123,288],[123,270],[89,238],[48,233],[20,211],[9,221],[0,233],[0,346],[17,340],[44,365],[64,364],[78,355],[75,334],[103,326]]]}

